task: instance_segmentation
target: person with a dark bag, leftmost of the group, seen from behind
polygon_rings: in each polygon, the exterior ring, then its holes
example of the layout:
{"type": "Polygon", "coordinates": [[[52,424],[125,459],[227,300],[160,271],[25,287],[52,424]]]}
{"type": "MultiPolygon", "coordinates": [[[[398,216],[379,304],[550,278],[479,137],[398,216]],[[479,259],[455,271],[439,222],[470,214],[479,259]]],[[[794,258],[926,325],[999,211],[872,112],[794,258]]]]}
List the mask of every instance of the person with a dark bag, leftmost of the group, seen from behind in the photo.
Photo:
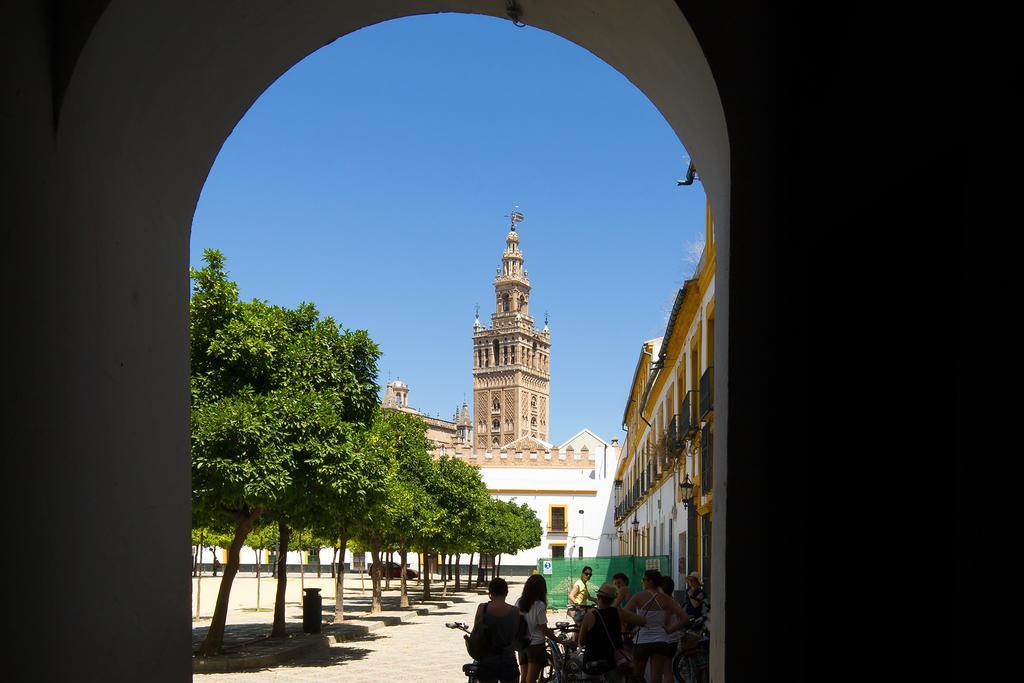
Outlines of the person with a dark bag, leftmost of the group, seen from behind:
{"type": "Polygon", "coordinates": [[[488,602],[476,608],[473,632],[469,639],[475,648],[480,683],[519,683],[519,665],[516,663],[517,636],[520,635],[522,614],[515,605],[505,601],[509,585],[504,579],[492,579],[487,585],[488,602]]]}

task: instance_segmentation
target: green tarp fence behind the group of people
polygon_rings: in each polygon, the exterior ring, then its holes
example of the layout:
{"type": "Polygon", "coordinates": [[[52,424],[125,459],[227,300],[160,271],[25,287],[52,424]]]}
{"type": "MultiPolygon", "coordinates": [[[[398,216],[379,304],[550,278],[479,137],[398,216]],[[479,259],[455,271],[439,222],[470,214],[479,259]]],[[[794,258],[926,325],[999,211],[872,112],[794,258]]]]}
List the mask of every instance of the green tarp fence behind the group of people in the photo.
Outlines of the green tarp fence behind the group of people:
{"type": "Polygon", "coordinates": [[[596,596],[601,584],[610,584],[611,578],[620,572],[630,578],[630,593],[637,593],[643,590],[640,580],[647,569],[669,573],[669,556],[542,557],[537,561],[537,572],[548,582],[548,609],[565,609],[572,584],[580,578],[585,566],[594,570],[588,584],[591,596],[596,596]]]}

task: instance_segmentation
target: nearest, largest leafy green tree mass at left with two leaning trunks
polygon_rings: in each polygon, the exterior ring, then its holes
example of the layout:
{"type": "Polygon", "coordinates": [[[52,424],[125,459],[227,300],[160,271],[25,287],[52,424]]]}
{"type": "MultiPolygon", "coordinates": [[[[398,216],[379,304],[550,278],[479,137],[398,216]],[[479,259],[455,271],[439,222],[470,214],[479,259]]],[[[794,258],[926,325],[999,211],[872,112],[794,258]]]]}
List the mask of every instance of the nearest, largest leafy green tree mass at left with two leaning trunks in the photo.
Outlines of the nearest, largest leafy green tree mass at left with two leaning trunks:
{"type": "Polygon", "coordinates": [[[203,654],[219,652],[239,551],[264,513],[279,525],[273,635],[285,635],[291,524],[302,525],[318,468],[339,458],[376,403],[379,351],[315,307],[238,300],[223,256],[205,252],[190,302],[193,504],[234,525],[203,654]],[[286,565],[287,566],[287,565],[286,565]]]}

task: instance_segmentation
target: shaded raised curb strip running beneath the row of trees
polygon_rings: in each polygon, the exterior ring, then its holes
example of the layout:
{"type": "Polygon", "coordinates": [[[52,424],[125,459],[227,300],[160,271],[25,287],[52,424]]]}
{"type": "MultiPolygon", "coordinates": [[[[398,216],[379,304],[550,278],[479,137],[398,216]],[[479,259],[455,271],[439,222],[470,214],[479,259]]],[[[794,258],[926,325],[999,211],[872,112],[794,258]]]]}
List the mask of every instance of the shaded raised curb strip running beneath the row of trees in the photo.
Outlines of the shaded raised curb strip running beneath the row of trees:
{"type": "MultiPolygon", "coordinates": [[[[474,596],[475,597],[475,596],[474,596]]],[[[294,659],[313,649],[330,647],[332,643],[346,643],[365,638],[374,631],[403,624],[415,616],[426,616],[435,610],[451,607],[457,602],[469,602],[464,596],[431,596],[429,599],[414,599],[410,607],[398,607],[377,614],[366,613],[355,618],[346,618],[335,625],[324,624],[324,631],[332,633],[299,633],[288,639],[264,637],[236,646],[234,650],[267,648],[265,653],[232,653],[230,650],[212,657],[193,656],[194,674],[224,674],[232,672],[265,669],[294,659]]]]}

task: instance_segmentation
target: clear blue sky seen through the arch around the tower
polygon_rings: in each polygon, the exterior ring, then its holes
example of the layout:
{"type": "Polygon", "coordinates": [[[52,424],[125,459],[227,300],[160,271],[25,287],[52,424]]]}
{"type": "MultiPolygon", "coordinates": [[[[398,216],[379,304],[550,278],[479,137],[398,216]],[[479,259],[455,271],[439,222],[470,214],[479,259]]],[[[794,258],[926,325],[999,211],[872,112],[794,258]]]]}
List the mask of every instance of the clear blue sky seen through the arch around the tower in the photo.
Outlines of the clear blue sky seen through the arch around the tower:
{"type": "Polygon", "coordinates": [[[640,344],[660,336],[703,239],[688,155],[621,74],[492,17],[403,18],[296,65],[242,119],[193,222],[191,262],[227,256],[246,299],[311,301],[382,350],[381,385],[451,418],[472,404],[473,307],[518,205],[551,316],[551,440],[623,436],[640,344]]]}

